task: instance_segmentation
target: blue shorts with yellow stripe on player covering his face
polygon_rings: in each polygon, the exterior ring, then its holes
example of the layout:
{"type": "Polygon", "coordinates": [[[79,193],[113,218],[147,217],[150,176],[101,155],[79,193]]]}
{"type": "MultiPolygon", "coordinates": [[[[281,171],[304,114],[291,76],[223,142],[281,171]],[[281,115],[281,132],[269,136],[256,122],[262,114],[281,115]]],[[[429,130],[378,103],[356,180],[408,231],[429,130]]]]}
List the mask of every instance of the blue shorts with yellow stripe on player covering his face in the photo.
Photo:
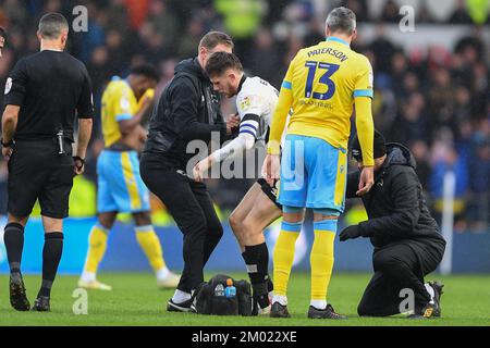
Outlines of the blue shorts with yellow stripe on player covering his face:
{"type": "Polygon", "coordinates": [[[139,175],[136,151],[103,150],[97,161],[97,211],[137,213],[149,211],[149,191],[139,175]]]}

